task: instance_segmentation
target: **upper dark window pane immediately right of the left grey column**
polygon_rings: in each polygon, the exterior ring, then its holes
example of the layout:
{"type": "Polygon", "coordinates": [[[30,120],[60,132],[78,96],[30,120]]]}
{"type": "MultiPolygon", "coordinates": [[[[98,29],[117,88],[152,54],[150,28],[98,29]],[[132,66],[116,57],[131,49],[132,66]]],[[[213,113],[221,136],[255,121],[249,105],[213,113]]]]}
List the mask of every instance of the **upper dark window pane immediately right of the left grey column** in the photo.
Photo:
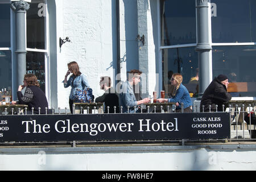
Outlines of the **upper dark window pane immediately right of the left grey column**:
{"type": "Polygon", "coordinates": [[[46,49],[45,18],[46,5],[43,0],[32,0],[27,11],[27,47],[46,49]]]}

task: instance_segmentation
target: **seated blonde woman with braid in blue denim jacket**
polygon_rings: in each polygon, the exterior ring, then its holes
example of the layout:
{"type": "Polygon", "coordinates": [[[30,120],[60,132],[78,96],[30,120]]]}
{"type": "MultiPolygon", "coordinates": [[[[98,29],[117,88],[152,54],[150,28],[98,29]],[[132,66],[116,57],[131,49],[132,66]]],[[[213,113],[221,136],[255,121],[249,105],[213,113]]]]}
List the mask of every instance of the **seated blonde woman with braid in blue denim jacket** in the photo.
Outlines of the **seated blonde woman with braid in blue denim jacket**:
{"type": "Polygon", "coordinates": [[[176,113],[181,112],[181,103],[184,104],[184,113],[192,113],[192,102],[187,88],[181,84],[183,77],[180,73],[174,73],[171,77],[171,85],[175,86],[172,98],[159,98],[158,102],[175,102],[176,113]]]}

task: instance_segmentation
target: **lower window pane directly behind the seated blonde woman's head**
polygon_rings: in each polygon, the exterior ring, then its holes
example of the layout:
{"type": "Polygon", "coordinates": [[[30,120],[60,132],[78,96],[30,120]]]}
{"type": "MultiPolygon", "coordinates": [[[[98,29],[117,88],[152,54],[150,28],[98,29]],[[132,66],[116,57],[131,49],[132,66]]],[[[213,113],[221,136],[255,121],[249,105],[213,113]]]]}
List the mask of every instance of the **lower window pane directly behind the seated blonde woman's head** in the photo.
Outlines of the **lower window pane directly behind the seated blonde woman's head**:
{"type": "Polygon", "coordinates": [[[170,78],[172,73],[181,73],[183,85],[185,85],[192,97],[198,93],[198,62],[195,47],[172,48],[162,50],[162,69],[163,69],[163,90],[171,96],[173,87],[170,78]]]}

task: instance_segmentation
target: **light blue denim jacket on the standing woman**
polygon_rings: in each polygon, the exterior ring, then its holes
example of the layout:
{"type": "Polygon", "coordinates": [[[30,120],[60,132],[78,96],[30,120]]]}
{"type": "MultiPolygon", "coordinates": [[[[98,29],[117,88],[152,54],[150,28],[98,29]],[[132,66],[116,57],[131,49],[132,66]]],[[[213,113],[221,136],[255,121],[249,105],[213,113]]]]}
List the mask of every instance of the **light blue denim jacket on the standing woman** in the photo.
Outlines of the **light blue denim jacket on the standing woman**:
{"type": "MultiPolygon", "coordinates": [[[[64,81],[63,81],[64,83],[64,81]]],[[[71,92],[69,94],[69,98],[71,100],[75,99],[76,89],[83,90],[85,88],[90,87],[88,84],[88,80],[84,74],[81,74],[80,76],[70,76],[67,83],[64,83],[64,88],[67,88],[68,86],[71,86],[71,92]]]]}

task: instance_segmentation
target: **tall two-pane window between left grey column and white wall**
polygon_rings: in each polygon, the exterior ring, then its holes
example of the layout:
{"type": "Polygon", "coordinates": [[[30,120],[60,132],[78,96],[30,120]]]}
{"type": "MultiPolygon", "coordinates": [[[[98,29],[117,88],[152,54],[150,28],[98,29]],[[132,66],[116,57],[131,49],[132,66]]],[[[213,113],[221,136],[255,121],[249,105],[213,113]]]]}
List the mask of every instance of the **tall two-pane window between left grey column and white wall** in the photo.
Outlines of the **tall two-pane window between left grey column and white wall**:
{"type": "Polygon", "coordinates": [[[40,88],[46,93],[46,65],[48,61],[46,41],[46,1],[32,0],[27,16],[27,73],[34,73],[40,88]]]}

